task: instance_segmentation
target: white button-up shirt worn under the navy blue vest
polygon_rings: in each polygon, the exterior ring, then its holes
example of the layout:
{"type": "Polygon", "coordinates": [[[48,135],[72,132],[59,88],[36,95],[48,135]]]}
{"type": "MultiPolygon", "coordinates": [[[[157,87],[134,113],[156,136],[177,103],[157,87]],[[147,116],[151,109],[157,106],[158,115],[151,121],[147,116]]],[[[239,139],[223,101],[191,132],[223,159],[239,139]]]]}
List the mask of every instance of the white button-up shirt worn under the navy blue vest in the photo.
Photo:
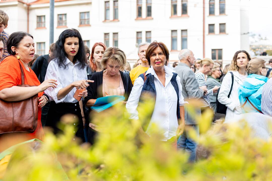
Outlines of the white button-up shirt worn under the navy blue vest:
{"type": "MultiPolygon", "coordinates": [[[[173,76],[173,72],[175,71],[167,66],[164,66],[164,71],[165,71],[165,86],[163,86],[163,84],[160,82],[153,67],[149,68],[146,72],[146,75],[149,73],[154,75],[154,84],[157,93],[154,111],[150,123],[147,127],[146,133],[150,135],[151,125],[154,123],[158,126],[159,129],[162,130],[162,134],[164,136],[162,141],[167,141],[173,136],[176,136],[176,131],[178,128],[177,119],[178,98],[175,88],[170,82],[173,76]]],[[[176,81],[178,83],[179,105],[183,106],[185,103],[188,102],[185,102],[182,96],[182,85],[180,83],[180,77],[177,76],[176,81]]],[[[134,82],[134,86],[132,87],[130,96],[126,103],[126,109],[128,110],[128,113],[131,114],[130,116],[131,119],[139,119],[137,107],[143,85],[144,80],[141,77],[138,77],[134,82]]]]}

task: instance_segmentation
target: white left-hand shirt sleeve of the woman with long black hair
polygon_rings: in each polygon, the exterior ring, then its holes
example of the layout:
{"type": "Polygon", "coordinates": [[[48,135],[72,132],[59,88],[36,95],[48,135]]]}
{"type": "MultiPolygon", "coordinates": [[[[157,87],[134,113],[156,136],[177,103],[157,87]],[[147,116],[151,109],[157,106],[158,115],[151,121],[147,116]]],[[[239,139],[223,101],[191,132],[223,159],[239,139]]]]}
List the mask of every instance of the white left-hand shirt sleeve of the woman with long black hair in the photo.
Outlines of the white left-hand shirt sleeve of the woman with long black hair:
{"type": "Polygon", "coordinates": [[[53,61],[49,62],[44,80],[48,80],[48,79],[57,80],[57,84],[58,84],[58,85],[56,85],[57,88],[48,87],[44,91],[44,93],[49,96],[50,101],[55,101],[55,103],[61,103],[61,102],[63,102],[63,100],[66,98],[67,95],[64,96],[63,98],[61,98],[60,100],[58,100],[58,98],[57,98],[58,91],[61,90],[63,88],[63,86],[61,85],[58,71],[55,66],[56,65],[53,61]]]}

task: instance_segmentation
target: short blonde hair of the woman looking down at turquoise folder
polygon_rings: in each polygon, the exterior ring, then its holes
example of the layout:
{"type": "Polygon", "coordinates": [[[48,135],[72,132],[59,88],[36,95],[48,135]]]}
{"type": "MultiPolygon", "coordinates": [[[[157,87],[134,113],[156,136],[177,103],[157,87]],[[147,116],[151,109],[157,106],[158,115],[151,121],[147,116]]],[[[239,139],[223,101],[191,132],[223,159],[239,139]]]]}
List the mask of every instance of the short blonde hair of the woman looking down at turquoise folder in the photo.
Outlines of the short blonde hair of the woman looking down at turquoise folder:
{"type": "Polygon", "coordinates": [[[105,50],[100,62],[102,69],[106,68],[106,63],[108,60],[113,63],[118,63],[118,65],[120,65],[120,69],[126,68],[126,55],[117,47],[109,47],[105,50]]]}

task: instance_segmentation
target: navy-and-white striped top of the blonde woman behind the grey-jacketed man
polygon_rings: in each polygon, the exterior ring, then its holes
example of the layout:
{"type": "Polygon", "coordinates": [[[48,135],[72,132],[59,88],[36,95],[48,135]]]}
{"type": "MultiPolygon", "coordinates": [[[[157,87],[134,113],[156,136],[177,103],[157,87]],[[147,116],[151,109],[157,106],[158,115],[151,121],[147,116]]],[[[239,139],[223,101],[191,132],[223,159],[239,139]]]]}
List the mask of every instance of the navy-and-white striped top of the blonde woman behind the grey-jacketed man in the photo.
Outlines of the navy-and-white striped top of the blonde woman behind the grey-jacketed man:
{"type": "MultiPolygon", "coordinates": [[[[196,80],[198,81],[199,87],[207,86],[205,81],[205,75],[202,72],[198,72],[195,74],[196,80]]],[[[211,107],[210,106],[210,96],[214,95],[212,89],[207,91],[207,94],[204,95],[200,100],[201,106],[200,107],[211,107]]]]}

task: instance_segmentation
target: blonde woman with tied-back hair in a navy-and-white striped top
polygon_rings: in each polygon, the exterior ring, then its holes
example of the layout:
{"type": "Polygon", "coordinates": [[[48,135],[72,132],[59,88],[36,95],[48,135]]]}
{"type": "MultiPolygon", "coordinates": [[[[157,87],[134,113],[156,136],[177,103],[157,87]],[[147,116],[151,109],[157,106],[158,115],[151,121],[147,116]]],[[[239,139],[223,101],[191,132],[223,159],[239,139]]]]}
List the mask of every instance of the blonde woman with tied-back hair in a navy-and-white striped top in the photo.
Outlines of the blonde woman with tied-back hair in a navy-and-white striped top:
{"type": "MultiPolygon", "coordinates": [[[[199,69],[195,73],[195,77],[198,81],[199,87],[207,86],[205,81],[205,76],[208,75],[214,66],[214,61],[210,58],[204,58],[203,60],[199,61],[199,69]]],[[[206,108],[210,108],[210,96],[213,96],[214,93],[217,93],[218,86],[214,86],[213,88],[209,89],[204,96],[199,99],[201,102],[201,110],[205,110],[206,108]]]]}

